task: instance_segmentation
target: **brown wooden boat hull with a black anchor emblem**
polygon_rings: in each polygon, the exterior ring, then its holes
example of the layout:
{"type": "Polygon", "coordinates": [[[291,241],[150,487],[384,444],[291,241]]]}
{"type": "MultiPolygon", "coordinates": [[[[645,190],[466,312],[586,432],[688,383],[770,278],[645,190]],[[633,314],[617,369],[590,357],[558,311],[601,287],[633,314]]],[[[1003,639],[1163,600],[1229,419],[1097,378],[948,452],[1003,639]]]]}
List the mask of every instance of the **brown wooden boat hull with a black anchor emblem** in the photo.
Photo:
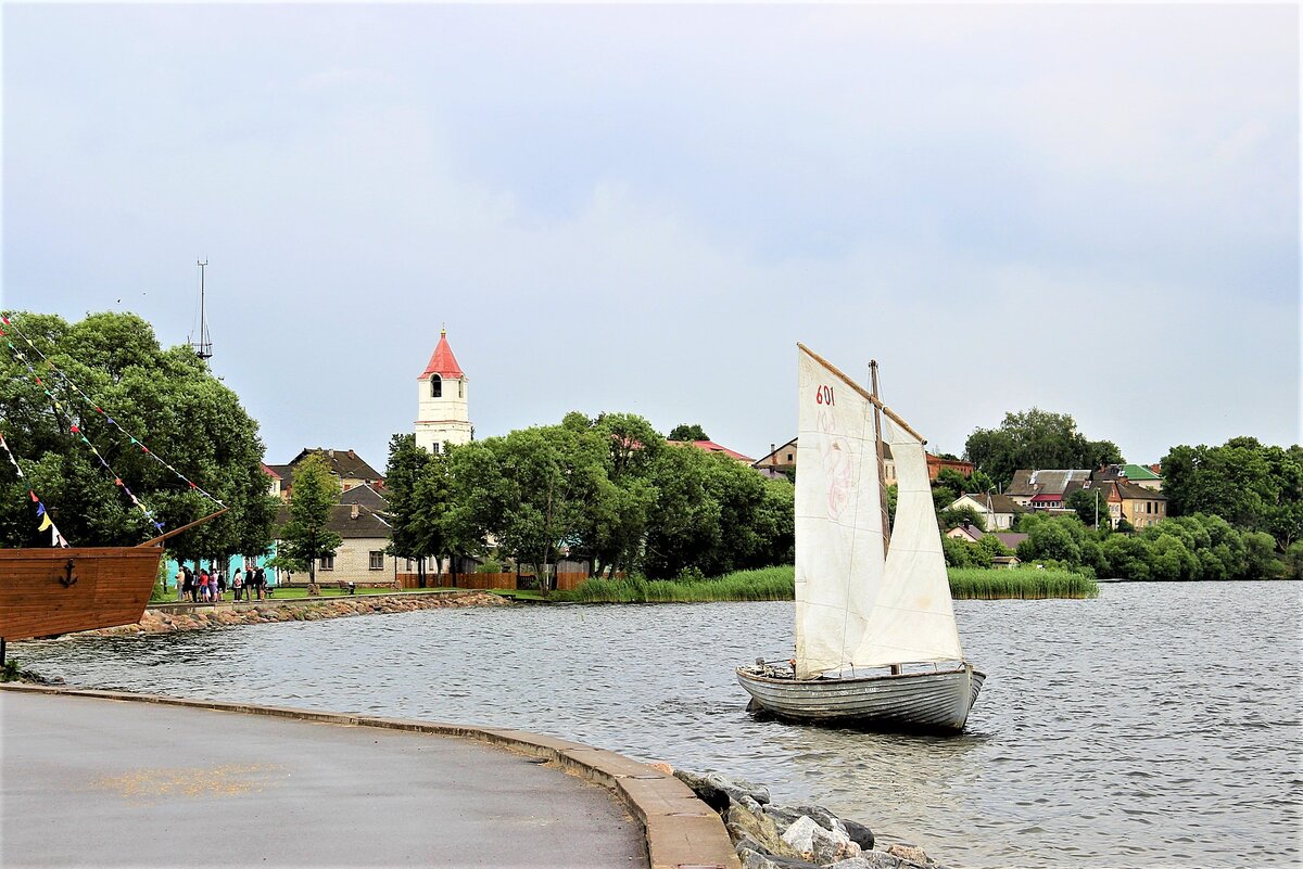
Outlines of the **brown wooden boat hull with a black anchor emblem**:
{"type": "Polygon", "coordinates": [[[0,549],[0,637],[134,624],[162,558],[162,546],[0,549]]]}

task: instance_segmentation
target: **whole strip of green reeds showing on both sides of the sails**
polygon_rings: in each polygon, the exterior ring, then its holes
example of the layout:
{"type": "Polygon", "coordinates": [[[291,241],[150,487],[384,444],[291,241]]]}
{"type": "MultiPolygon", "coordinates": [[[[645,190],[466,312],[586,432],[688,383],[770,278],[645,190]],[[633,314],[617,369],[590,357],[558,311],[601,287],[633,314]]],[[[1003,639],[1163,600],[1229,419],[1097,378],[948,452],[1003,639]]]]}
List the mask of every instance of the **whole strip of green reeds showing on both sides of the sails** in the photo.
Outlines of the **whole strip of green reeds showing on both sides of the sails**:
{"type": "MultiPolygon", "coordinates": [[[[950,568],[955,600],[1042,600],[1098,597],[1100,587],[1084,574],[1067,570],[950,568]]],[[[572,592],[552,592],[550,600],[580,604],[697,604],[706,601],[790,601],[796,597],[791,565],[740,570],[698,582],[590,579],[572,592]]]]}

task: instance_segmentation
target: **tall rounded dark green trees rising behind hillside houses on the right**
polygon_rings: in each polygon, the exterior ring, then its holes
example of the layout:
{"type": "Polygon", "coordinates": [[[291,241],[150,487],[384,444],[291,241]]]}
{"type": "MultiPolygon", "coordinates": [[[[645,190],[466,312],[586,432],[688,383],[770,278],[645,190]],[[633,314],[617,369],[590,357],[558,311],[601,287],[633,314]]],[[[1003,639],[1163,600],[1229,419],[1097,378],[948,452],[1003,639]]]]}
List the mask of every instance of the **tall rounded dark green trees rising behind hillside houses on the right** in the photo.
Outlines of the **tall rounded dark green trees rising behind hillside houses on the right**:
{"type": "Polygon", "coordinates": [[[976,429],[964,454],[1001,487],[1019,468],[1097,468],[1123,461],[1111,441],[1092,441],[1078,432],[1071,415],[1038,407],[1005,414],[999,428],[976,429]]]}

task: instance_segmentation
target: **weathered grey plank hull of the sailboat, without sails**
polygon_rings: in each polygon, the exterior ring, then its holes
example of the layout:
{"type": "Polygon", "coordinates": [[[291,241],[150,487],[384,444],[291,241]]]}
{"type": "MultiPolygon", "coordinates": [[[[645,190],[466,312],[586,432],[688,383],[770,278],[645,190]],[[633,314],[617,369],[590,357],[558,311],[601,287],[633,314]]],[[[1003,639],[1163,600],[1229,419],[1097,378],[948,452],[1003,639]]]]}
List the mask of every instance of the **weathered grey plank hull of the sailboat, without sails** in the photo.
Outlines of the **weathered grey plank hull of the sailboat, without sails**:
{"type": "Polygon", "coordinates": [[[971,663],[941,673],[797,680],[737,667],[737,682],[766,712],[790,721],[959,732],[986,675],[971,663]]]}

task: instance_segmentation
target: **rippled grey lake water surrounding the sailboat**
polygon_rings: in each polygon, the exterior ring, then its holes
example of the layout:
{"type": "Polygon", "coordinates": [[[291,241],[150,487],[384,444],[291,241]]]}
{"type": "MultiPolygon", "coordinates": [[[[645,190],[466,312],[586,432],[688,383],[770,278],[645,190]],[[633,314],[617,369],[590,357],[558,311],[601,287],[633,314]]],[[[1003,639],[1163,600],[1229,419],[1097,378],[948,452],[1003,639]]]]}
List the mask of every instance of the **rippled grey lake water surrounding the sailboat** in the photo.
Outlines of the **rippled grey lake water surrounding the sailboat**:
{"type": "Polygon", "coordinates": [[[1303,862],[1299,583],[956,604],[959,738],[757,721],[732,667],[792,605],[426,610],[13,644],[69,683],[512,726],[767,783],[951,866],[1303,862]]]}

